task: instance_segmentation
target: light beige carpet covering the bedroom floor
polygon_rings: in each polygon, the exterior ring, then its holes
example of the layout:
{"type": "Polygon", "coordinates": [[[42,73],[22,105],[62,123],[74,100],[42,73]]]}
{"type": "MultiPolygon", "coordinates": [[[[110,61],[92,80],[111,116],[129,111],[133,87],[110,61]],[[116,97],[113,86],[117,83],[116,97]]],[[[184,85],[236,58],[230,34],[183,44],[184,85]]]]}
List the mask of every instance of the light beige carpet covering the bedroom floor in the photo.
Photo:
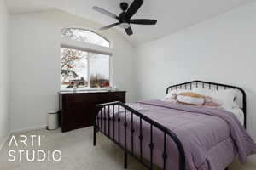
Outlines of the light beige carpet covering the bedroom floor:
{"type": "MultiPolygon", "coordinates": [[[[97,134],[96,147],[92,146],[92,128],[84,128],[69,133],[61,133],[61,130],[47,131],[44,129],[29,131],[26,133],[16,133],[16,139],[20,135],[41,135],[41,147],[11,147],[8,143],[0,151],[0,169],[1,170],[122,170],[123,169],[123,151],[120,150],[102,134],[97,134]],[[62,159],[59,162],[28,162],[22,161],[9,162],[9,150],[61,150],[62,159]]],[[[31,144],[29,144],[31,145],[31,144]]],[[[15,155],[17,156],[17,155],[15,155]]],[[[25,155],[26,156],[26,155],[25,155]]],[[[145,169],[137,161],[129,156],[128,169],[145,169]]],[[[256,170],[256,156],[250,156],[247,164],[241,166],[239,161],[235,160],[230,166],[230,170],[256,170]]]]}

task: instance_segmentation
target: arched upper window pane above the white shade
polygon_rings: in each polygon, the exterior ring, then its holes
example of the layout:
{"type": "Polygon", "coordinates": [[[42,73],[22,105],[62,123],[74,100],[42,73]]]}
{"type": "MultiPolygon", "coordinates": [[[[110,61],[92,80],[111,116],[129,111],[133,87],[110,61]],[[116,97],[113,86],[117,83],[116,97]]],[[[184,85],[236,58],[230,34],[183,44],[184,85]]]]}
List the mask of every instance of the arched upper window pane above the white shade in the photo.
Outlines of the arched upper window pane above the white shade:
{"type": "Polygon", "coordinates": [[[106,48],[110,47],[108,40],[95,32],[87,31],[79,28],[64,28],[61,31],[62,37],[67,37],[74,41],[88,42],[95,45],[103,46],[106,48]]]}

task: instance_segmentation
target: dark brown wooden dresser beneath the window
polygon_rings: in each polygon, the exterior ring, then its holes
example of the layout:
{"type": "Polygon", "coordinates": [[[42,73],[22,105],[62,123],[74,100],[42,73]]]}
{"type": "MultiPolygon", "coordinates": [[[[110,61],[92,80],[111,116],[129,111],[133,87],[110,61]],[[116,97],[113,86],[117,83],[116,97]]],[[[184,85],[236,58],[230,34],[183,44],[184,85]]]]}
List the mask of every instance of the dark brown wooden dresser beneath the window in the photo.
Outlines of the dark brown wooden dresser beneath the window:
{"type": "Polygon", "coordinates": [[[92,126],[96,118],[96,105],[113,101],[125,103],[125,91],[61,92],[60,123],[62,133],[92,126]]]}

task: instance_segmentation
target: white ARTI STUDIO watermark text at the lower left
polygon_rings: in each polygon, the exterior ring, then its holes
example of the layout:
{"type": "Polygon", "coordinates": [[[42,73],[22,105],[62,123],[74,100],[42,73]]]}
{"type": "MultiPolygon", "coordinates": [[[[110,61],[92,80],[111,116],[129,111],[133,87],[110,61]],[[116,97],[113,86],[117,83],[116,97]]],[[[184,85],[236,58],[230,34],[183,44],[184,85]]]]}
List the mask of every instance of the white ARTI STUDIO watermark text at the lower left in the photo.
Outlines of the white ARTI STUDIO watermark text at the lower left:
{"type": "Polygon", "coordinates": [[[20,135],[20,140],[17,140],[14,135],[9,140],[9,147],[20,148],[38,148],[38,150],[9,150],[8,161],[61,161],[61,150],[39,150],[41,147],[42,138],[41,135],[20,135]]]}

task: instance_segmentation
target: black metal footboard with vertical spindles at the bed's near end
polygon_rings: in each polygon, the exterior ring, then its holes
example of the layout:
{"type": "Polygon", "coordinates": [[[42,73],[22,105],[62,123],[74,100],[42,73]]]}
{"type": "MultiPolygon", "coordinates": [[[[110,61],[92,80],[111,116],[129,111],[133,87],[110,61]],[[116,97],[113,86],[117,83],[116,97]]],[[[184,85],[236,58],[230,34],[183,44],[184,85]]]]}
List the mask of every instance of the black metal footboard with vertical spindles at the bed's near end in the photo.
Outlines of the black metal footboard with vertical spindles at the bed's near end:
{"type": "MultiPolygon", "coordinates": [[[[153,128],[159,129],[163,133],[163,146],[164,149],[162,151],[162,160],[163,160],[163,169],[166,170],[166,159],[168,157],[167,151],[166,151],[166,141],[167,137],[169,136],[174,143],[177,145],[177,150],[178,150],[178,155],[179,155],[179,162],[178,162],[178,170],[185,170],[186,169],[186,164],[185,164],[185,152],[183,149],[183,144],[181,141],[177,138],[177,135],[173,133],[171,130],[167,129],[166,127],[160,125],[158,122],[154,122],[152,119],[148,118],[147,116],[144,116],[140,112],[132,109],[128,105],[125,105],[122,102],[112,102],[112,103],[107,103],[107,104],[102,104],[102,105],[96,105],[96,122],[94,123],[94,133],[93,133],[93,144],[94,146],[96,145],[96,133],[100,131],[103,133],[105,136],[108,137],[108,139],[111,139],[113,143],[119,145],[121,149],[124,150],[125,156],[124,156],[124,167],[127,168],[127,155],[133,156],[137,161],[143,164],[143,166],[147,167],[148,169],[152,170],[154,168],[154,141],[153,141],[153,128]],[[113,117],[110,118],[110,107],[113,107],[113,117]],[[108,111],[106,111],[106,108],[108,108],[108,111]],[[115,111],[115,108],[118,108],[118,111],[115,111]],[[120,111],[120,108],[122,108],[124,111],[120,111]],[[131,113],[131,129],[128,129],[127,127],[127,111],[131,113]],[[115,114],[114,114],[115,113],[115,114]],[[124,114],[123,116],[125,117],[124,123],[121,123],[120,119],[120,114],[124,114]],[[134,153],[134,133],[135,133],[135,128],[134,128],[134,116],[137,116],[139,118],[139,154],[135,155],[134,153]],[[142,126],[143,122],[148,122],[149,124],[149,133],[147,134],[150,137],[150,144],[148,145],[148,148],[150,149],[150,159],[148,160],[149,163],[146,161],[143,161],[143,132],[142,132],[142,126]],[[110,133],[110,126],[111,123],[113,123],[113,132],[112,136],[110,133]],[[117,123],[117,126],[116,126],[117,123]],[[100,129],[98,126],[101,126],[102,129],[100,129]],[[108,126],[108,130],[107,130],[108,126]],[[125,132],[120,132],[120,127],[123,126],[125,132]],[[127,149],[127,133],[131,133],[131,150],[127,149]],[[115,133],[118,133],[118,137],[116,139],[115,133]],[[124,133],[124,143],[120,143],[120,133],[124,133]]],[[[144,134],[145,135],[145,134],[144,134]]],[[[158,141],[160,142],[160,141],[158,141]]]]}

